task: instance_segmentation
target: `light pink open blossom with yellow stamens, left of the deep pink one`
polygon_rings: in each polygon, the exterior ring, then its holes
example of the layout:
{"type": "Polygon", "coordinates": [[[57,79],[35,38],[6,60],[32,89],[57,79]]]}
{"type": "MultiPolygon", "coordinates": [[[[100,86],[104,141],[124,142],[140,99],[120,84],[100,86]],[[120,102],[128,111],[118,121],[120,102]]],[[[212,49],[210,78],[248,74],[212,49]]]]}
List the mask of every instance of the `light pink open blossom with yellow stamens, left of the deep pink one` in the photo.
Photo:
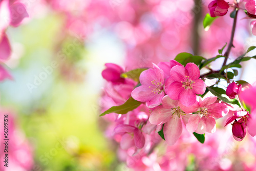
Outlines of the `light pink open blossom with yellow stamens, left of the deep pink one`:
{"type": "Polygon", "coordinates": [[[146,102],[148,108],[154,108],[161,104],[164,96],[164,72],[155,63],[154,69],[148,69],[140,74],[142,86],[135,88],[132,97],[138,101],[146,102]]]}

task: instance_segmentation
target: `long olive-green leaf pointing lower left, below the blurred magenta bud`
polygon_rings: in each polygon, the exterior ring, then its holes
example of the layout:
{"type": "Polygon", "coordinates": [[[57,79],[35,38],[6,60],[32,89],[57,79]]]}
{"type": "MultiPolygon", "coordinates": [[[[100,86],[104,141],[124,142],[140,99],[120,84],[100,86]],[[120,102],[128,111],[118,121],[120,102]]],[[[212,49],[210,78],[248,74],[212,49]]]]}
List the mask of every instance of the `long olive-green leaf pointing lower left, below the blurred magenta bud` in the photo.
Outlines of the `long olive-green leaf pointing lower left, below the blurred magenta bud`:
{"type": "Polygon", "coordinates": [[[110,109],[106,110],[99,116],[104,116],[110,113],[126,114],[127,112],[138,108],[140,104],[140,101],[134,100],[132,97],[130,97],[125,103],[118,106],[112,106],[110,109]]]}

